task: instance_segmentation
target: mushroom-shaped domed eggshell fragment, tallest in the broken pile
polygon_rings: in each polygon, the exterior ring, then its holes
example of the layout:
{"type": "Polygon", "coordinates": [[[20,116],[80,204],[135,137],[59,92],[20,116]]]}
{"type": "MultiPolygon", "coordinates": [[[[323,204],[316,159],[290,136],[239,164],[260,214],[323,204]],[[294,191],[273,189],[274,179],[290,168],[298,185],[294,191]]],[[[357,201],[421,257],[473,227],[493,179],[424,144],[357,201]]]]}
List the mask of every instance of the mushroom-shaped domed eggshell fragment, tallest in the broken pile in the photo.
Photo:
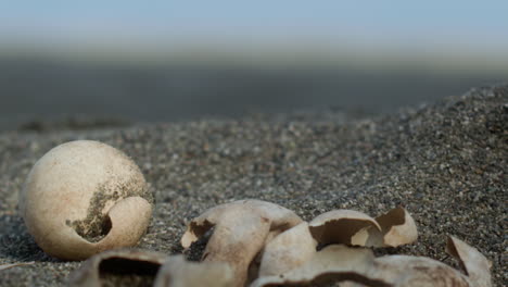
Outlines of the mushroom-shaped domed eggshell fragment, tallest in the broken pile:
{"type": "Polygon", "coordinates": [[[263,249],[270,230],[285,230],[302,222],[294,212],[280,205],[240,200],[215,207],[192,220],[181,238],[185,248],[215,226],[203,261],[226,262],[234,271],[234,286],[243,286],[249,266],[263,249]]]}

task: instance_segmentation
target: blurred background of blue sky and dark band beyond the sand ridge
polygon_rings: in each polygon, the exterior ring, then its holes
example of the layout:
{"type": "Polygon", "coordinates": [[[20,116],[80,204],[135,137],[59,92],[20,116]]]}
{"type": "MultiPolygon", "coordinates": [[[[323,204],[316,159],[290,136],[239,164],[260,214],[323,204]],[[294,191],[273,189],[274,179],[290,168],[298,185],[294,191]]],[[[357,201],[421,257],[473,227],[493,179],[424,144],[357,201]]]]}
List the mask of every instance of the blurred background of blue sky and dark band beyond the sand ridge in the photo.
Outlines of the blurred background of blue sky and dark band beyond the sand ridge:
{"type": "Polygon", "coordinates": [[[0,1],[0,129],[389,113],[508,79],[508,1],[0,1]]]}

